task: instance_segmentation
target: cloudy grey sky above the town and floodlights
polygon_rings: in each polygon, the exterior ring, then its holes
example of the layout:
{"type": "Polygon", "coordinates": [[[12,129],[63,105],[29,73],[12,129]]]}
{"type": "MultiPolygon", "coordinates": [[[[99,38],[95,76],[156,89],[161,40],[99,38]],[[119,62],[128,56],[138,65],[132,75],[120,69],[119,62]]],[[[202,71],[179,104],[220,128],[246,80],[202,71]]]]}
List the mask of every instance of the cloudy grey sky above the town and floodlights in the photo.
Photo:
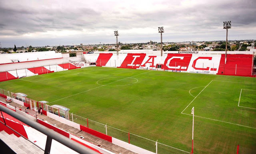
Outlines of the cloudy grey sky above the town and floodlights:
{"type": "Polygon", "coordinates": [[[2,47],[256,39],[256,0],[0,0],[2,47]]]}

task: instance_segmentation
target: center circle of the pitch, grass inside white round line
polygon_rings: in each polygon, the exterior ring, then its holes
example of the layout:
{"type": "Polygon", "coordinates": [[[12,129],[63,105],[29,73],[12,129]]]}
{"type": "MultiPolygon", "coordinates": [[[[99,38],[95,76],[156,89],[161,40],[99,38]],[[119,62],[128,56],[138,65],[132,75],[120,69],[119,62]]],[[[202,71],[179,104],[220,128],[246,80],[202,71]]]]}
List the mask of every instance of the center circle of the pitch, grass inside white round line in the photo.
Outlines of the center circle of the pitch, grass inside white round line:
{"type": "Polygon", "coordinates": [[[125,85],[132,85],[138,82],[138,79],[134,77],[107,77],[97,81],[98,85],[118,87],[125,85]]]}

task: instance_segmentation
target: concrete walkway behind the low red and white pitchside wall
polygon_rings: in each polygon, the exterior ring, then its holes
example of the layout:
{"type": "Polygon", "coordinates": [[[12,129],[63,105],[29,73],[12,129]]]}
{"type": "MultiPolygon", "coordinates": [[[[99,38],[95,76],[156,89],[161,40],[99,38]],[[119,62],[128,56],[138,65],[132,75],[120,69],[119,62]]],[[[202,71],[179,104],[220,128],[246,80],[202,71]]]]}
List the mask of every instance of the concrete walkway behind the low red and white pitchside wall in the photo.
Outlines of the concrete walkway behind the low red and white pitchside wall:
{"type": "MultiPolygon", "coordinates": [[[[0,97],[0,101],[5,102],[5,99],[3,97],[0,97]]],[[[20,106],[17,103],[11,102],[9,103],[11,106],[15,107],[16,109],[21,109],[22,111],[25,111],[26,107],[20,106]]],[[[46,115],[38,115],[36,111],[33,111],[31,109],[27,109],[28,113],[32,116],[36,116],[44,121],[47,121],[49,124],[55,124],[56,127],[61,128],[62,130],[65,130],[66,132],[69,132],[70,134],[73,134],[77,137],[83,136],[83,140],[86,140],[96,146],[100,146],[101,148],[104,148],[106,150],[109,150],[111,152],[114,152],[116,154],[136,154],[130,150],[127,150],[125,148],[122,148],[120,146],[117,146],[116,144],[113,144],[111,142],[108,142],[106,140],[103,140],[101,138],[98,138],[94,135],[91,135],[87,132],[84,132],[82,130],[79,130],[77,128],[74,128],[72,126],[68,126],[67,124],[64,124],[62,122],[59,122],[57,120],[54,120],[46,115]]]]}

